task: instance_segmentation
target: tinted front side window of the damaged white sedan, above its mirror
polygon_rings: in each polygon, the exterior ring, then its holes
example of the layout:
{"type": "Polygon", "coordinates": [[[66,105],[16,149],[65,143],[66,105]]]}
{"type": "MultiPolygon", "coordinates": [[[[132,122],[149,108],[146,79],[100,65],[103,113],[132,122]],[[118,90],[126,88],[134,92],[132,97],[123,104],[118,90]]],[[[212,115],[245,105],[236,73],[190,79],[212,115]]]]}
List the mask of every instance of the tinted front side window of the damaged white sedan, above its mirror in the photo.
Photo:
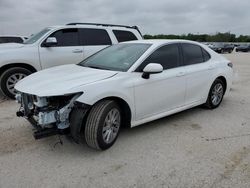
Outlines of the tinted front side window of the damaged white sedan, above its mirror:
{"type": "Polygon", "coordinates": [[[180,66],[179,47],[177,44],[169,44],[154,51],[137,69],[142,72],[149,63],[159,63],[163,69],[171,69],[180,66]]]}

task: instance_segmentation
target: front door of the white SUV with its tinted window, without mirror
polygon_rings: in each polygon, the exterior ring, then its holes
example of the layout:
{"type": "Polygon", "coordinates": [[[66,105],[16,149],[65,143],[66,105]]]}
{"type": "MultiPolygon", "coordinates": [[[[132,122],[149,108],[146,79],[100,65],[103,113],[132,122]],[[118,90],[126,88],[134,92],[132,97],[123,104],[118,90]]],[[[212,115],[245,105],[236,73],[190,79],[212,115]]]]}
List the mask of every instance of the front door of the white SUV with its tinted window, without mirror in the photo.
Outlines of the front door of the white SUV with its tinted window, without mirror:
{"type": "Polygon", "coordinates": [[[61,29],[49,37],[55,37],[57,45],[53,47],[45,47],[43,43],[40,45],[39,53],[43,69],[64,64],[76,64],[83,60],[83,46],[80,45],[77,28],[61,29]]]}

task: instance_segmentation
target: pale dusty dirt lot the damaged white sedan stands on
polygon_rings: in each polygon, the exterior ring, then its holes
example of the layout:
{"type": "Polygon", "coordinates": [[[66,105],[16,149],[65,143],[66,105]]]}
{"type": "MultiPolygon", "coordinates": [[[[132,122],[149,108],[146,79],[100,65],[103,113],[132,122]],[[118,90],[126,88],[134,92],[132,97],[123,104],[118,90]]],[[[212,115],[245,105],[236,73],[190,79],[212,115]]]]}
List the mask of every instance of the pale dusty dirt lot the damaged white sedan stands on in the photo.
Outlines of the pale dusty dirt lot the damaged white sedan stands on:
{"type": "Polygon", "coordinates": [[[34,140],[0,96],[0,187],[250,187],[250,54],[215,110],[194,108],[123,130],[105,152],[58,136],[34,140]]]}

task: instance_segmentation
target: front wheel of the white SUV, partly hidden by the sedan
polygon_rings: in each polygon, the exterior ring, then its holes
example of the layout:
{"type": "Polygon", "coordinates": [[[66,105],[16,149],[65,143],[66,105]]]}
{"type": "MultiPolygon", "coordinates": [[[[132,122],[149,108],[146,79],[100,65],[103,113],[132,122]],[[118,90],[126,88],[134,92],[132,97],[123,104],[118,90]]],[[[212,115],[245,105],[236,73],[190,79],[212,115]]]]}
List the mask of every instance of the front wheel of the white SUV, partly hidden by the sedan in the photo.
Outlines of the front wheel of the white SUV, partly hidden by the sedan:
{"type": "Polygon", "coordinates": [[[15,84],[31,73],[30,70],[21,67],[13,67],[4,71],[0,77],[0,87],[3,94],[11,99],[15,99],[15,84]]]}

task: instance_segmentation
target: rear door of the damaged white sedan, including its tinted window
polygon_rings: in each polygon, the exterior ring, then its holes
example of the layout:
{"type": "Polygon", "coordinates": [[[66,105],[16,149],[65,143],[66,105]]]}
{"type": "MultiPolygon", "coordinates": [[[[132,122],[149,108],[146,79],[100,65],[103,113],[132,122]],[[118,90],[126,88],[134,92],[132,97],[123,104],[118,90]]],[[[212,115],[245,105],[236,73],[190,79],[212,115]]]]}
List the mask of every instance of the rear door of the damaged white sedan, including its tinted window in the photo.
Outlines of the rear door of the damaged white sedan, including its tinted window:
{"type": "Polygon", "coordinates": [[[182,43],[181,46],[187,79],[185,104],[189,105],[206,99],[215,66],[209,53],[199,45],[182,43]]]}

